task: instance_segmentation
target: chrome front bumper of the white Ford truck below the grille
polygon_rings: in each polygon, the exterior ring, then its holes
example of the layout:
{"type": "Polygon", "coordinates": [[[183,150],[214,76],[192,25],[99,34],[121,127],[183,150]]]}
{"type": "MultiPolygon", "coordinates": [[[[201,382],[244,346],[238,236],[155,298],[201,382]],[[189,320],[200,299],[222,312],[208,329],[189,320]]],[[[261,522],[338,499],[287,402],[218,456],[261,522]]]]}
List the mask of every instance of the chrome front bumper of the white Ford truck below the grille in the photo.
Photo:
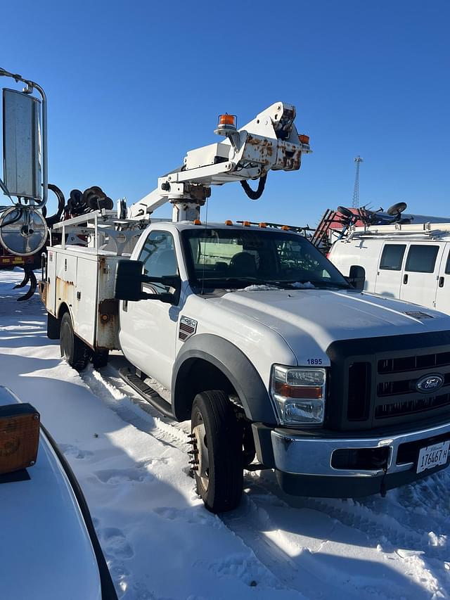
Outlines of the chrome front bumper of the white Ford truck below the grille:
{"type": "MultiPolygon", "coordinates": [[[[302,435],[286,435],[285,430],[271,431],[275,468],[283,473],[295,475],[331,475],[339,477],[378,477],[384,473],[409,471],[412,462],[397,464],[397,453],[401,444],[435,438],[450,433],[450,423],[383,438],[305,438],[302,435]],[[331,458],[335,450],[389,447],[387,470],[358,470],[334,468],[331,458]]],[[[424,444],[426,445],[426,443],[424,444]]]]}

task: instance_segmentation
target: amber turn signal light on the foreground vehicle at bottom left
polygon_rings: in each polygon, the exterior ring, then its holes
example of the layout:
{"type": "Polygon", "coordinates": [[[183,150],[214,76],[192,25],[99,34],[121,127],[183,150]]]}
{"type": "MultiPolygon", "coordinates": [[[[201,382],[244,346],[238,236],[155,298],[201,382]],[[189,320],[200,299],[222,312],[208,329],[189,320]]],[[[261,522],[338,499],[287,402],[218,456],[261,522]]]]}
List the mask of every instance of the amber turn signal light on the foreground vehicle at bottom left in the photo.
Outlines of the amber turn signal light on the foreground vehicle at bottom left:
{"type": "Polygon", "coordinates": [[[31,404],[0,407],[0,474],[34,465],[39,423],[39,412],[31,404]]]}

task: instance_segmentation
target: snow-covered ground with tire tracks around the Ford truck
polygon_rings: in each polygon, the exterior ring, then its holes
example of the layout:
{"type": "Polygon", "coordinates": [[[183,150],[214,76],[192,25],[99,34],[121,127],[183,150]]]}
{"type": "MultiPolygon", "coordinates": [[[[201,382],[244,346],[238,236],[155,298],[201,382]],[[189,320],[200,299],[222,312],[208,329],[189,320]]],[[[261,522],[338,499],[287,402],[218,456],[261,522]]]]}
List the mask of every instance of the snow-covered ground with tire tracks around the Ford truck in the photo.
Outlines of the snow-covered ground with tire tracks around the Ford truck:
{"type": "Polygon", "coordinates": [[[15,302],[21,279],[0,271],[0,383],[68,457],[121,599],[450,597],[450,472],[361,502],[287,497],[253,473],[240,508],[214,516],[188,475],[188,424],[141,401],[119,355],[81,376],[61,361],[39,296],[15,302]]]}

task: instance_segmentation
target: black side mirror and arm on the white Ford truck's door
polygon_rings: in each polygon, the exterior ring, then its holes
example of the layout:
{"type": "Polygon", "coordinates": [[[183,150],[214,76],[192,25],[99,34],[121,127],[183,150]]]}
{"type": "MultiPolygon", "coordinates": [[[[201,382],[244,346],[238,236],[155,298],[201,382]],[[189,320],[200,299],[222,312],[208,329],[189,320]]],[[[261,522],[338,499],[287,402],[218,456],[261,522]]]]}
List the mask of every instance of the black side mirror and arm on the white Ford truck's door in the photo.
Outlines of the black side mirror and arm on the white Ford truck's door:
{"type": "Polygon", "coordinates": [[[181,279],[178,275],[151,277],[143,275],[143,262],[141,260],[120,260],[117,262],[115,272],[114,298],[116,300],[160,300],[174,304],[179,297],[181,279]],[[175,293],[147,293],[142,291],[142,284],[159,283],[167,288],[175,288],[175,293]]]}

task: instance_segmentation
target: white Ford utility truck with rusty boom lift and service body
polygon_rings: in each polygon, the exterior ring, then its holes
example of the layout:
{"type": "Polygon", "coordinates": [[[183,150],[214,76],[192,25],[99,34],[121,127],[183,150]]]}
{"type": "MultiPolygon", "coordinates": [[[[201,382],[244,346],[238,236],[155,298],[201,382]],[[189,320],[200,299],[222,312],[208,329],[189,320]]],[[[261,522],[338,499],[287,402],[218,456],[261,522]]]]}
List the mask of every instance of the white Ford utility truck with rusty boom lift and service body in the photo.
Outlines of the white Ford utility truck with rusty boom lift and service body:
{"type": "Polygon", "coordinates": [[[120,349],[136,390],[191,419],[211,511],[238,505],[246,468],[291,494],[358,497],[449,463],[450,317],[355,290],[288,228],[198,219],[211,185],[261,177],[257,196],[270,169],[300,167],[294,117],[277,103],[236,131],[224,115],[224,142],[188,153],[127,218],[62,222],[40,286],[72,366],[120,349]],[[173,222],[148,224],[167,201],[173,222]]]}

